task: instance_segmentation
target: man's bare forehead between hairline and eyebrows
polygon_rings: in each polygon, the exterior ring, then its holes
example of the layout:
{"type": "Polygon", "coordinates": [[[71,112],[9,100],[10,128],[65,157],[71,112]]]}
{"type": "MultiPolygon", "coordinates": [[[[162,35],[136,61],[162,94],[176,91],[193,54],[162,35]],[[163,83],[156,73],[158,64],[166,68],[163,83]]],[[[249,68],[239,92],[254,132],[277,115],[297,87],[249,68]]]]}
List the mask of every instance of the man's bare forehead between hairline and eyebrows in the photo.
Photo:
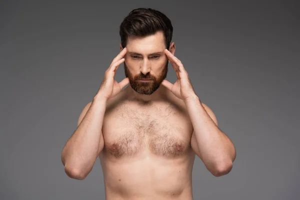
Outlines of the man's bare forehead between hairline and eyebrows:
{"type": "Polygon", "coordinates": [[[141,54],[152,53],[153,51],[163,51],[165,48],[162,31],[144,37],[129,37],[126,48],[141,54]]]}

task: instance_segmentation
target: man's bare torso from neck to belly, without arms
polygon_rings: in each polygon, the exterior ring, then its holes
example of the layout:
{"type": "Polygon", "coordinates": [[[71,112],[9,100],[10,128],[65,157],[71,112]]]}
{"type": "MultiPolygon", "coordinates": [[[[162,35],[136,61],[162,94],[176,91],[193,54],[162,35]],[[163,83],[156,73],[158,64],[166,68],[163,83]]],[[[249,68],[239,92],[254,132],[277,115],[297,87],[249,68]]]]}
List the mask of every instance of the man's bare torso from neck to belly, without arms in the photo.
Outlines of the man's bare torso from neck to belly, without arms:
{"type": "Polygon", "coordinates": [[[180,99],[107,102],[99,154],[106,199],[192,199],[192,124],[180,99]]]}

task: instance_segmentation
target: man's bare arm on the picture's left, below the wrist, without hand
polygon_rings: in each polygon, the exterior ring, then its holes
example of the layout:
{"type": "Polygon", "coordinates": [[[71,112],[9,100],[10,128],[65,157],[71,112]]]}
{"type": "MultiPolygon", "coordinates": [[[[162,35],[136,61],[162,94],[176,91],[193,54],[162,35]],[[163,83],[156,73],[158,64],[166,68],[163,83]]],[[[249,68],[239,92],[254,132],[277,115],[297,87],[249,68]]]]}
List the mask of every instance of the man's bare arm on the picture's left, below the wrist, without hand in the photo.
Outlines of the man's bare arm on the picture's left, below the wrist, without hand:
{"type": "Polygon", "coordinates": [[[61,153],[66,174],[75,179],[84,179],[103,149],[102,122],[106,99],[97,98],[83,108],[77,128],[67,140],[61,153]]]}

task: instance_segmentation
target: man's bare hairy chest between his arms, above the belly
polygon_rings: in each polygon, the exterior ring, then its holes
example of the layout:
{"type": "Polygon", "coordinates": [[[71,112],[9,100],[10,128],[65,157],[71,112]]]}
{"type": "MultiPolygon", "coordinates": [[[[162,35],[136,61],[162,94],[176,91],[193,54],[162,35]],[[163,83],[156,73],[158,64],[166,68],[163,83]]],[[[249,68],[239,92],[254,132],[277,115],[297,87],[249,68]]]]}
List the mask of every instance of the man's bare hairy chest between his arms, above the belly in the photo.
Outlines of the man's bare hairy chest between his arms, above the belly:
{"type": "Polygon", "coordinates": [[[113,157],[149,152],[173,157],[190,150],[192,124],[182,105],[146,109],[124,103],[104,115],[103,153],[113,157]]]}

